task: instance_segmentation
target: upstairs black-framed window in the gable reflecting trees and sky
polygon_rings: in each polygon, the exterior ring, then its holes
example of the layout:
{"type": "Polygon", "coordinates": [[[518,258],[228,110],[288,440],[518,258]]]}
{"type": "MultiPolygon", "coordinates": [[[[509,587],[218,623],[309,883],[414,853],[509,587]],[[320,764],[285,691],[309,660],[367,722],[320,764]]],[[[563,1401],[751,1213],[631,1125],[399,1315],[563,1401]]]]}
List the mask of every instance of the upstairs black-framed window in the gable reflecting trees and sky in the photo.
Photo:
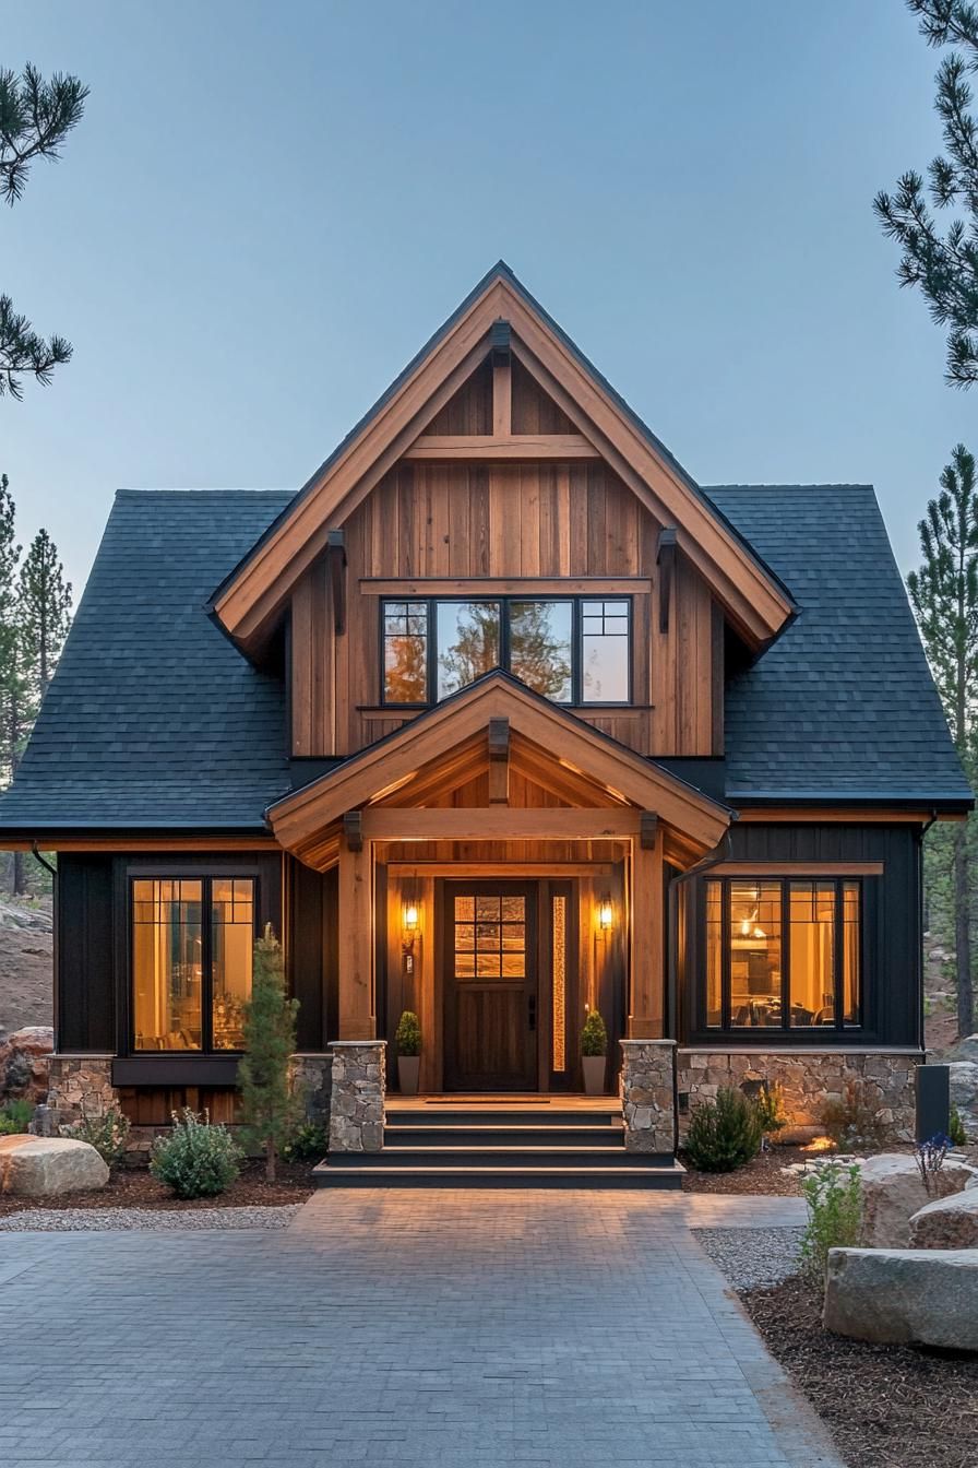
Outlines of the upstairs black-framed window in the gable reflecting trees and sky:
{"type": "Polygon", "coordinates": [[[437,703],[504,668],[554,703],[629,703],[629,597],[478,597],[381,605],[384,703],[437,703]]]}

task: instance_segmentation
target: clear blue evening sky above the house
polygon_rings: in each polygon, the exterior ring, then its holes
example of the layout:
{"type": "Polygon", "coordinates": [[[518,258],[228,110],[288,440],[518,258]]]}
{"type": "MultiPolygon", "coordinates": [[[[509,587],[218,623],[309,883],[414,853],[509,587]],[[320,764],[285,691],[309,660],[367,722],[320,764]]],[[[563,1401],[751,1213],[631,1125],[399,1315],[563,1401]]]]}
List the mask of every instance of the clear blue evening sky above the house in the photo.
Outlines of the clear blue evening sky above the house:
{"type": "Polygon", "coordinates": [[[91,87],[0,214],[75,360],[0,401],[76,587],[116,487],[298,487],[500,255],[701,483],[872,482],[903,570],[978,389],[871,200],[938,148],[899,0],[1,0],[91,87]]]}

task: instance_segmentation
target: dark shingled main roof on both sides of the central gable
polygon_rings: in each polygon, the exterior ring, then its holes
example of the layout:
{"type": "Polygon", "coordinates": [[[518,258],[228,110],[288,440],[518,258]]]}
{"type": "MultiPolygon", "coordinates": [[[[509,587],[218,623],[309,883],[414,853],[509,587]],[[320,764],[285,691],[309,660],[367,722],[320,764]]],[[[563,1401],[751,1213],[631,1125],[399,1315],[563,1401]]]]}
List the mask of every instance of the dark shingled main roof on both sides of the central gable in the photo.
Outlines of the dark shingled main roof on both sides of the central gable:
{"type": "MultiPolygon", "coordinates": [[[[727,799],[966,800],[865,486],[704,490],[799,603],[727,694],[727,799]]],[[[122,490],[0,829],[260,829],[284,688],[207,615],[293,496],[122,490]]]]}

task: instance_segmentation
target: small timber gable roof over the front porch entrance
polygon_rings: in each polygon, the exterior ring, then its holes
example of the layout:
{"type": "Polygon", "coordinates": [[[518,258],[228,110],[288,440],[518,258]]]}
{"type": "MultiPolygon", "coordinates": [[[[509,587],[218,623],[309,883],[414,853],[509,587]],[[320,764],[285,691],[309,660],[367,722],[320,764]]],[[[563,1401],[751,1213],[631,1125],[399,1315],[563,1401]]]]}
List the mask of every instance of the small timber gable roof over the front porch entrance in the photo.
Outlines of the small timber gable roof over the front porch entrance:
{"type": "MultiPolygon", "coordinates": [[[[651,812],[676,832],[677,850],[688,857],[711,850],[735,818],[727,806],[654,760],[550,703],[518,678],[496,671],[276,800],[265,819],[286,850],[323,869],[334,859],[339,824],[348,812],[377,806],[422,809],[438,793],[478,772],[479,760],[488,759],[491,719],[506,719],[512,728],[512,757],[521,771],[575,810],[591,810],[597,818],[587,829],[582,826],[584,840],[622,835],[626,813],[635,816],[638,828],[638,813],[651,812]],[[606,832],[598,831],[601,812],[607,813],[606,832]]],[[[565,815],[566,810],[559,816],[547,813],[554,821],[565,815]]],[[[545,819],[541,812],[538,816],[545,819]]],[[[519,838],[521,819],[512,819],[513,838],[519,838]]],[[[493,835],[500,838],[499,831],[493,835]]],[[[573,832],[567,829],[565,837],[572,838],[573,832]]]]}

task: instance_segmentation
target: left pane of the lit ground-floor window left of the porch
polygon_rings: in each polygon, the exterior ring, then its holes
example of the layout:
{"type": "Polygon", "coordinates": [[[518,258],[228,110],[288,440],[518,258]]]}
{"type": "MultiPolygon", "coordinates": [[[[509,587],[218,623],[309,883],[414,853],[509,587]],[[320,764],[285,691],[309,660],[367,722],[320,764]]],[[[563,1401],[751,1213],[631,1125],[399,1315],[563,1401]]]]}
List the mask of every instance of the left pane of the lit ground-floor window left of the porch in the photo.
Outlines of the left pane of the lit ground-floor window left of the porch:
{"type": "Polygon", "coordinates": [[[132,884],[136,1050],[202,1044],[202,882],[132,884]]]}

